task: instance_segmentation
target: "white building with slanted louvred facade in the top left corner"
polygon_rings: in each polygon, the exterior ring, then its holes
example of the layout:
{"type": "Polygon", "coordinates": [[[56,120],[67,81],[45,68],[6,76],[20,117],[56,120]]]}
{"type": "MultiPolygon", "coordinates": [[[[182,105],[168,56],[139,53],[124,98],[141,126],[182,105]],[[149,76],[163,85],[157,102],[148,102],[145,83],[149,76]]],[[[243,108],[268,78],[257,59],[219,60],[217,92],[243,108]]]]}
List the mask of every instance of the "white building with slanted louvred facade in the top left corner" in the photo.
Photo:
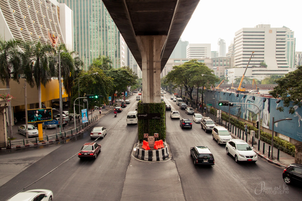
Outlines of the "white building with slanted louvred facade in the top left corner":
{"type": "Polygon", "coordinates": [[[20,39],[52,44],[73,49],[72,10],[56,0],[0,1],[0,36],[2,39],[20,39]]]}

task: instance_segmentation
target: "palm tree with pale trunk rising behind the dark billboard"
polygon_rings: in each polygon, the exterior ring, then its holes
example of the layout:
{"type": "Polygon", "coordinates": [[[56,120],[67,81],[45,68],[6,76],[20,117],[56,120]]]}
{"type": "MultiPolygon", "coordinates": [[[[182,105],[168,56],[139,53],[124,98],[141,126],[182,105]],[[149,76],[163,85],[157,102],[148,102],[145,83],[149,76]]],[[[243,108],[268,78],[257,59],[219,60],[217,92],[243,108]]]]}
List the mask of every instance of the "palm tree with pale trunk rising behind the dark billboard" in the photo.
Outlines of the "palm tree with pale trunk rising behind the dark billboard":
{"type": "Polygon", "coordinates": [[[54,69],[49,68],[49,54],[53,51],[53,48],[48,44],[42,44],[40,41],[28,41],[25,43],[24,49],[24,55],[28,58],[28,65],[32,69],[37,85],[39,108],[42,108],[41,84],[45,87],[50,82],[54,72],[54,69]]]}

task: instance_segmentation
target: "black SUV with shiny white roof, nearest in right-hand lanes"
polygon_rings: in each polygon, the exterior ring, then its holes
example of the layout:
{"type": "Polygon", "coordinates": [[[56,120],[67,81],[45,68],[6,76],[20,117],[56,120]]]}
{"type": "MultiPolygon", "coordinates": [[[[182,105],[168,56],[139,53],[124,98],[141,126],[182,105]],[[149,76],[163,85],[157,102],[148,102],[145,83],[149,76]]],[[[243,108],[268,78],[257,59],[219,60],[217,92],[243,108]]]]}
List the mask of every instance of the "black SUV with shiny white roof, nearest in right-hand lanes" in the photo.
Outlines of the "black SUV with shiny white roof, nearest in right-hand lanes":
{"type": "Polygon", "coordinates": [[[190,149],[194,165],[214,165],[215,160],[212,152],[206,146],[194,146],[190,149]]]}

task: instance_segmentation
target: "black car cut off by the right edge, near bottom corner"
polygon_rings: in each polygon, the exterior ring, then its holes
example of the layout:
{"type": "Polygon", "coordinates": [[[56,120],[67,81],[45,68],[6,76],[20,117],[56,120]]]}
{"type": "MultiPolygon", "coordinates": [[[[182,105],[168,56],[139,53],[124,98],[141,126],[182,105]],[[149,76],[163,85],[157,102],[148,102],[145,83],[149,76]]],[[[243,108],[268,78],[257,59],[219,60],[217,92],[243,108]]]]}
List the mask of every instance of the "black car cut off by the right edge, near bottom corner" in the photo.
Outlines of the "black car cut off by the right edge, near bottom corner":
{"type": "Polygon", "coordinates": [[[302,184],[302,164],[292,163],[284,169],[282,177],[286,184],[302,184]]]}

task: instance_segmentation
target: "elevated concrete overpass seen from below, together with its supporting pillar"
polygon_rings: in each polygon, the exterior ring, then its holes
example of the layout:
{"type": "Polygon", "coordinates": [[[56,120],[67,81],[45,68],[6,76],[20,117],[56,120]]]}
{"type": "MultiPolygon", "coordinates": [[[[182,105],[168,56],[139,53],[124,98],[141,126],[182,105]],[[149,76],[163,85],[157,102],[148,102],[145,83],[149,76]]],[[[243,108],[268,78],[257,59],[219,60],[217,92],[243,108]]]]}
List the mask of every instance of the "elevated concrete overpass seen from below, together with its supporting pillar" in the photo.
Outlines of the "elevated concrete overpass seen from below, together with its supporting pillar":
{"type": "Polygon", "coordinates": [[[199,0],[103,0],[143,73],[144,103],[160,102],[160,73],[199,0]]]}

